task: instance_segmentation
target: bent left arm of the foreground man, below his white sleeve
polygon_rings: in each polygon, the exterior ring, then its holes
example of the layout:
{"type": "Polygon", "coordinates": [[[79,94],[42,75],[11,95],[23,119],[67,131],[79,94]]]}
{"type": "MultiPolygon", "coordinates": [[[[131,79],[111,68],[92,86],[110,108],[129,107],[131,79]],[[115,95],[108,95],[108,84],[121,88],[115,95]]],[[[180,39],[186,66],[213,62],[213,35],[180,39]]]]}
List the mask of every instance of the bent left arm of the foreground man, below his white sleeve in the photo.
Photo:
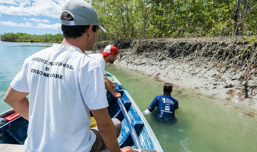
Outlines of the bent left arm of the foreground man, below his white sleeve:
{"type": "Polygon", "coordinates": [[[16,91],[10,86],[4,98],[4,101],[26,120],[29,120],[29,101],[26,98],[28,94],[27,92],[16,91]]]}

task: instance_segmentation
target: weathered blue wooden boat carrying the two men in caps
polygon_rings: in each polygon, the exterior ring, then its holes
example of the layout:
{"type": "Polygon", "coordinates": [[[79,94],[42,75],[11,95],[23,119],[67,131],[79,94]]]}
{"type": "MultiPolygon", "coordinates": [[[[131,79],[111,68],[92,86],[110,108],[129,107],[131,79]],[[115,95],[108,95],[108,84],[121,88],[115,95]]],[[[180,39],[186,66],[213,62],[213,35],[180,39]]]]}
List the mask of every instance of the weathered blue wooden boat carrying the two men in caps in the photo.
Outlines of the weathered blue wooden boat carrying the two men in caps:
{"type": "MultiPolygon", "coordinates": [[[[115,98],[109,91],[106,91],[109,115],[111,118],[119,119],[122,123],[118,137],[120,148],[130,146],[133,149],[163,152],[153,130],[126,89],[112,74],[106,72],[106,76],[116,84],[116,91],[121,93],[121,98],[115,98]]],[[[0,143],[24,144],[28,121],[14,110],[2,114],[0,120],[0,143]]]]}

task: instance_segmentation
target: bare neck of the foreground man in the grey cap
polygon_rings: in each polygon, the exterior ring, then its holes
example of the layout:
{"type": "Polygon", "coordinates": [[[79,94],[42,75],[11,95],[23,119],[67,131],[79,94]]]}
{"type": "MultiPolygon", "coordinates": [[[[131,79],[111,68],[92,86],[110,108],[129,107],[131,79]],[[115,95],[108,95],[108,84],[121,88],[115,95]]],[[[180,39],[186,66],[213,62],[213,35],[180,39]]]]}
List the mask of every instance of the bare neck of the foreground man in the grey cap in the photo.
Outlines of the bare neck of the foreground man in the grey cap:
{"type": "Polygon", "coordinates": [[[62,45],[67,45],[67,46],[75,46],[78,47],[83,53],[85,53],[86,50],[86,45],[85,41],[81,39],[81,37],[78,38],[65,38],[61,42],[62,45]]]}

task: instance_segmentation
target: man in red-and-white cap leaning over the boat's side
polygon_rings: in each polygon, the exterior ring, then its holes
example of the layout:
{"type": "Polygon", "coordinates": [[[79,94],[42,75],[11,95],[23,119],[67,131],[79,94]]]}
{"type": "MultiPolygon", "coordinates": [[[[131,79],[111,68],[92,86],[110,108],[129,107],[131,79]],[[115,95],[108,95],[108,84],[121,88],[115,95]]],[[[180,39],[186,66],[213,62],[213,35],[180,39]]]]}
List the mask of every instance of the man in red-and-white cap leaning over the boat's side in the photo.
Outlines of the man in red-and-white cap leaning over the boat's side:
{"type": "Polygon", "coordinates": [[[93,59],[97,60],[101,64],[102,70],[104,73],[105,88],[108,89],[109,92],[111,92],[111,94],[113,94],[113,96],[116,98],[118,97],[120,98],[121,94],[113,90],[113,88],[116,88],[116,85],[107,78],[106,72],[105,72],[105,64],[106,63],[113,64],[113,62],[116,60],[118,56],[118,53],[119,51],[115,46],[108,45],[105,47],[102,53],[88,55],[89,57],[92,57],[93,59]]]}

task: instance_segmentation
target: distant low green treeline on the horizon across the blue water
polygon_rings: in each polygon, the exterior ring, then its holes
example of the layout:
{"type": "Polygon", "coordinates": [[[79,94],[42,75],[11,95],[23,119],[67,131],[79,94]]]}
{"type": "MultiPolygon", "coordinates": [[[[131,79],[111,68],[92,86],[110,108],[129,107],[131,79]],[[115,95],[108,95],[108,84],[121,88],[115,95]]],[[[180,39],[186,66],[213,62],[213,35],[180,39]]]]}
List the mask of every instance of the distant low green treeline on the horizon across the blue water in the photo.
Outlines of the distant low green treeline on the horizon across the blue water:
{"type": "Polygon", "coordinates": [[[52,35],[31,35],[27,33],[4,33],[0,35],[2,41],[8,42],[42,42],[42,43],[61,43],[63,36],[61,33],[52,35]]]}

